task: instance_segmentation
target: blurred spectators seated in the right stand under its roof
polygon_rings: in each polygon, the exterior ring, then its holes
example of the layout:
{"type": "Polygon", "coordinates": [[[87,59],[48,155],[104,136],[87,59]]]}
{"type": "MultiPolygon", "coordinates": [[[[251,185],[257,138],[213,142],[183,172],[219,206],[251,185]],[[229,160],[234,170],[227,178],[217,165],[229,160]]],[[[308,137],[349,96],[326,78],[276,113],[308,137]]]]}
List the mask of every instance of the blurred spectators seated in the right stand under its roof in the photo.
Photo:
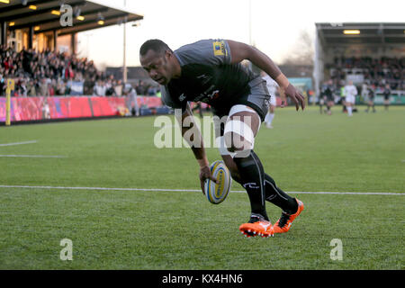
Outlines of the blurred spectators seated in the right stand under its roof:
{"type": "Polygon", "coordinates": [[[376,89],[390,85],[392,90],[405,90],[405,58],[341,56],[329,64],[329,71],[335,85],[340,85],[348,75],[362,75],[365,85],[374,85],[376,89]]]}

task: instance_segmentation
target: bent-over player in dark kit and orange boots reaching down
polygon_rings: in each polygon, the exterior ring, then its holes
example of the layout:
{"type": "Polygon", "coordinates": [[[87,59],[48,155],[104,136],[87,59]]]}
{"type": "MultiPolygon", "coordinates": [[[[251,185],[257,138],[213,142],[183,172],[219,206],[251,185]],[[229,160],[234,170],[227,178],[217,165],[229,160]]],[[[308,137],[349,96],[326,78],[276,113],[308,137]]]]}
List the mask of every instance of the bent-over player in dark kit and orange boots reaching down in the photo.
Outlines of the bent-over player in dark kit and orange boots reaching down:
{"type": "MultiPolygon", "coordinates": [[[[182,110],[182,123],[192,117],[188,102],[208,103],[218,118],[226,122],[216,129],[220,154],[232,178],[247,191],[251,214],[239,230],[247,237],[273,236],[287,232],[302,212],[303,203],[284,193],[267,175],[254,152],[255,137],[268,111],[270,94],[266,81],[240,62],[244,59],[275,79],[291,98],[298,111],[305,102],[271,58],[253,46],[234,40],[199,40],[175,51],[162,40],[147,40],[139,49],[140,64],[148,75],[162,85],[162,101],[182,110]],[[282,216],[272,225],[266,212],[266,201],[282,209],[282,216]]],[[[191,129],[181,124],[182,133],[191,129]]],[[[200,165],[202,193],[206,179],[213,178],[202,144],[191,145],[200,165]]]]}

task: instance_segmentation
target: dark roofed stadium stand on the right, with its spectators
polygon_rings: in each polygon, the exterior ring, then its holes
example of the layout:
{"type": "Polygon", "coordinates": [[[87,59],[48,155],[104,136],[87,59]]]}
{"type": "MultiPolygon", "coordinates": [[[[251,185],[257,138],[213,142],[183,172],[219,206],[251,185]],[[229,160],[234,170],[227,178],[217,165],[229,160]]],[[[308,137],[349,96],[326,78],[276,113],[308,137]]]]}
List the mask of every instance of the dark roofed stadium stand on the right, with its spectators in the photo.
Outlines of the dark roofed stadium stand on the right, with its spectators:
{"type": "Polygon", "coordinates": [[[389,85],[392,104],[405,104],[405,23],[316,23],[316,94],[331,79],[335,91],[353,81],[364,103],[365,87],[383,103],[389,85]]]}

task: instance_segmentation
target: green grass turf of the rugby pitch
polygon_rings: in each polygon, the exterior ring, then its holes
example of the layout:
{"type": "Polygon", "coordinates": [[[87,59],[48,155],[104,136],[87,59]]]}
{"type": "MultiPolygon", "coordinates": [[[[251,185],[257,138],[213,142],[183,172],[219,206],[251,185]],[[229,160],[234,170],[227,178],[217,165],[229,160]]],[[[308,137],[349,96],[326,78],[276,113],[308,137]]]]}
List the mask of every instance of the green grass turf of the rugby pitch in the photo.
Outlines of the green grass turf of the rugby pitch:
{"type": "MultiPolygon", "coordinates": [[[[403,193],[405,107],[352,118],[335,107],[277,109],[255,145],[284,191],[403,193]]],[[[0,127],[3,185],[199,189],[188,148],[155,148],[155,118],[0,127]]],[[[219,159],[207,149],[210,161],[219,159]]],[[[242,190],[234,182],[232,190],[242,190]]],[[[293,194],[293,193],[292,193],[293,194]]],[[[292,229],[244,238],[247,194],[212,205],[202,193],[0,188],[2,269],[403,269],[404,197],[293,194],[305,204],[292,229]],[[61,261],[62,238],[73,261],[61,261]],[[332,261],[333,238],[343,260],[332,261]]],[[[280,210],[267,203],[275,222],[280,210]]]]}

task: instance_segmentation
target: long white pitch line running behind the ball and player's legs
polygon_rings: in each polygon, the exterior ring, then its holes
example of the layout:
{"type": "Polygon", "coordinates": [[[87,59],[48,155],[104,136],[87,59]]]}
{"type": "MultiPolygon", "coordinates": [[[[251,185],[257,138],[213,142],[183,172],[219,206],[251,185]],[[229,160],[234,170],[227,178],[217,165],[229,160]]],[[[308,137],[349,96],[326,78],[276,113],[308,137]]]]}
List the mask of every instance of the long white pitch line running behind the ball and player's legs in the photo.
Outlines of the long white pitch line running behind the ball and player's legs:
{"type": "MultiPolygon", "coordinates": [[[[109,187],[63,187],[63,186],[26,186],[0,185],[0,188],[28,188],[28,189],[60,189],[60,190],[101,190],[101,191],[146,191],[146,192],[201,192],[198,189],[160,189],[160,188],[109,188],[109,187]]],[[[246,193],[246,191],[230,191],[231,193],[246,193]]],[[[383,192],[287,192],[296,194],[340,194],[340,195],[405,195],[405,193],[383,192]]]]}

